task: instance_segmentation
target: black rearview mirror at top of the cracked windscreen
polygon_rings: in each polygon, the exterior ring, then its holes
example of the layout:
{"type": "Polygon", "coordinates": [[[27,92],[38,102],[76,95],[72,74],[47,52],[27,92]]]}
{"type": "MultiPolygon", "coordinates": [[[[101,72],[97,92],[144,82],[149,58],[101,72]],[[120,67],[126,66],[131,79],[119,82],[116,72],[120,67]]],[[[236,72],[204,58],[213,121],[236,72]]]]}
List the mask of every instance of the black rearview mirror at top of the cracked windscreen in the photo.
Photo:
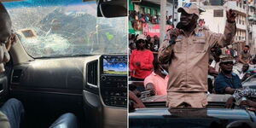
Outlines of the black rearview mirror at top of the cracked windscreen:
{"type": "Polygon", "coordinates": [[[127,16],[127,0],[99,0],[97,16],[107,18],[127,16]]]}

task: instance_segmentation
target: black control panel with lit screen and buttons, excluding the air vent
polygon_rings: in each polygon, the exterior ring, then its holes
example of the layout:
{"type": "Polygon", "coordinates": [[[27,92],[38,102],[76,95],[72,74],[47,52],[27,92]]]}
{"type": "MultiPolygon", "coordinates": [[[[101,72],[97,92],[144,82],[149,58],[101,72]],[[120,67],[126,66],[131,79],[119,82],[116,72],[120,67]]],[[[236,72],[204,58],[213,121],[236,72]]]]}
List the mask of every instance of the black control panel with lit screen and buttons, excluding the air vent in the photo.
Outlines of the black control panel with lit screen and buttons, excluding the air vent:
{"type": "Polygon", "coordinates": [[[100,93],[106,106],[127,108],[127,55],[100,57],[100,93]]]}

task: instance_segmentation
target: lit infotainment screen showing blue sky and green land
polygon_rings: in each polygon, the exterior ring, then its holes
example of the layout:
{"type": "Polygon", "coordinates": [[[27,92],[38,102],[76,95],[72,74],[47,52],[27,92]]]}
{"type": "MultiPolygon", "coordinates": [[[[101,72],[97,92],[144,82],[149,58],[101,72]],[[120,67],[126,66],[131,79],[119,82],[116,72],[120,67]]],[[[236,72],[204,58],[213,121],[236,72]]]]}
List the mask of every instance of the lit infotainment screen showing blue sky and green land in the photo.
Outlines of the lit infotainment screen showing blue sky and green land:
{"type": "Polygon", "coordinates": [[[127,57],[126,55],[103,55],[103,73],[126,75],[127,57]]]}

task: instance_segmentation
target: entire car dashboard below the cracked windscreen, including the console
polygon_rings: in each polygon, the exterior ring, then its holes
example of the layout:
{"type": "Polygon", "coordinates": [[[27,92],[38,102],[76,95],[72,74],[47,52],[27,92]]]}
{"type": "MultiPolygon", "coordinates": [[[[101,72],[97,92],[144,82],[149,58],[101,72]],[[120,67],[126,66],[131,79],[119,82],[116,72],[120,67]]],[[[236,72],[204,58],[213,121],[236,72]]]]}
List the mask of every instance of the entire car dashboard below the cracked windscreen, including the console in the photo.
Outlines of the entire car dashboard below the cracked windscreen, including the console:
{"type": "Polygon", "coordinates": [[[84,111],[90,127],[126,127],[127,55],[28,61],[13,67],[9,89],[31,113],[84,111]]]}

